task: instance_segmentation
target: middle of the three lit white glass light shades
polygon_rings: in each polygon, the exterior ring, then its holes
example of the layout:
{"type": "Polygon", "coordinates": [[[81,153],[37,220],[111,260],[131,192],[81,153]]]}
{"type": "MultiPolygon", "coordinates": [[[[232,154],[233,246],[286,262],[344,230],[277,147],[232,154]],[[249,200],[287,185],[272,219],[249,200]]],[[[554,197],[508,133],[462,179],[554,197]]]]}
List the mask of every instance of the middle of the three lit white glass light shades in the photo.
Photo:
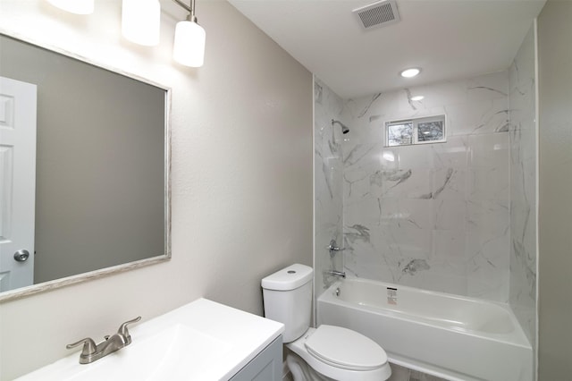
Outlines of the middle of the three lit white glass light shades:
{"type": "Polygon", "coordinates": [[[122,35],[139,45],[159,43],[161,4],[157,0],[123,0],[122,35]]]}

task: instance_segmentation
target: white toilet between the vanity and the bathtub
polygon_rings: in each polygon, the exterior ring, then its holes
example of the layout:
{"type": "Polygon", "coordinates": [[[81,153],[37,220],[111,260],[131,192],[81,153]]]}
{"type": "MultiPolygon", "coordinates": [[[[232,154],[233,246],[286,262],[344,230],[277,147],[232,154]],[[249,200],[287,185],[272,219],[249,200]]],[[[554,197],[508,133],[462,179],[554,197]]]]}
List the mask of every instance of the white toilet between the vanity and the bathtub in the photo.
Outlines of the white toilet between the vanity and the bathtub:
{"type": "Polygon", "coordinates": [[[387,354],[373,340],[341,326],[310,327],[312,267],[291,265],[262,280],[265,317],[281,322],[294,381],[384,381],[387,354]]]}

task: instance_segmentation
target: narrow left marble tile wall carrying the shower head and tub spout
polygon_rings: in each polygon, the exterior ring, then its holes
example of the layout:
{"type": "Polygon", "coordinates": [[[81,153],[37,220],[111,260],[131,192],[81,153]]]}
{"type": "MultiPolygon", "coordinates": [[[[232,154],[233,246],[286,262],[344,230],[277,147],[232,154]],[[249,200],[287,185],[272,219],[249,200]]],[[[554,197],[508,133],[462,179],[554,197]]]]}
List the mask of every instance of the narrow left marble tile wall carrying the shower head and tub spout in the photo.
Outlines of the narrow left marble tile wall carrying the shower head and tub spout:
{"type": "Polygon", "coordinates": [[[340,120],[343,101],[324,82],[314,82],[314,193],[315,193],[315,294],[316,298],[333,279],[327,270],[343,270],[343,255],[330,258],[330,240],[342,243],[343,162],[342,133],[332,119],[340,120]]]}

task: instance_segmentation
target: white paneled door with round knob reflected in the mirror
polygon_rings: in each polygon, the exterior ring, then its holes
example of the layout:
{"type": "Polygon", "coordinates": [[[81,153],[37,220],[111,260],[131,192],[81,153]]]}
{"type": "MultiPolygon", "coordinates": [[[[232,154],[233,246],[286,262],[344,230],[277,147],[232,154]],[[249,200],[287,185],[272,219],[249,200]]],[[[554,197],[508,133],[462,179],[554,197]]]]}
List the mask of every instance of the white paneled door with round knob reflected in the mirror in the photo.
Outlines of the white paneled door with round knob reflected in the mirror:
{"type": "Polygon", "coordinates": [[[0,77],[0,292],[34,283],[37,86],[0,77]]]}

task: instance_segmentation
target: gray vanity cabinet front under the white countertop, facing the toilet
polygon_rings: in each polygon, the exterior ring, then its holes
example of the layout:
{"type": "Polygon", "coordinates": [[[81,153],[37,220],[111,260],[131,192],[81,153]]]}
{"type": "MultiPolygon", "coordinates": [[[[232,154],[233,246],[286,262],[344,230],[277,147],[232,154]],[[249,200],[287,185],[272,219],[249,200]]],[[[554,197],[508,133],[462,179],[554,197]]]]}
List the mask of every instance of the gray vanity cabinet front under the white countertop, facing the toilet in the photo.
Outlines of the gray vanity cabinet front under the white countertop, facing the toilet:
{"type": "Polygon", "coordinates": [[[282,335],[241,368],[231,381],[281,381],[282,335]]]}

